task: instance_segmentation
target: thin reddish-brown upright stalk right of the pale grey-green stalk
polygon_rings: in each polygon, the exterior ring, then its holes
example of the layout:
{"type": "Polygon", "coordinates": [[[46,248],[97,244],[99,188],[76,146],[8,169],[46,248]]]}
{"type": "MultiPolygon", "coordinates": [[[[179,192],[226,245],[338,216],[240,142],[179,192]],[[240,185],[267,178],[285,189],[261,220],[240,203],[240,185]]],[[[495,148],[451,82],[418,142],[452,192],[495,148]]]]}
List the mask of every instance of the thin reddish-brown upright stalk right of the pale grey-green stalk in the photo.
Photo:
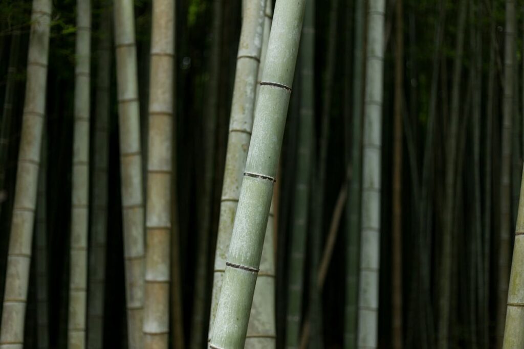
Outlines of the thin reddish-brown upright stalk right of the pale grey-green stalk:
{"type": "Polygon", "coordinates": [[[404,32],[402,0],[397,0],[395,32],[395,117],[393,141],[393,217],[392,217],[392,335],[393,347],[402,345],[402,102],[404,32]]]}

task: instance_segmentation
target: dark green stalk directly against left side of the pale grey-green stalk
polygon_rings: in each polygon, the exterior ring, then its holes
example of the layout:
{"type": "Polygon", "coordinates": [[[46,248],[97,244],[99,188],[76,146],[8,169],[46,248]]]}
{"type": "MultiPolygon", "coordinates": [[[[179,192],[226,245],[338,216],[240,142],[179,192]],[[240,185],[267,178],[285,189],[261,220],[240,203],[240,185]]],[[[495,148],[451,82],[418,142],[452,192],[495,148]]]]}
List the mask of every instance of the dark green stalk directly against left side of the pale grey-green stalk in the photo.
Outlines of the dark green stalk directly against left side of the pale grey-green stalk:
{"type": "Polygon", "coordinates": [[[346,279],[344,304],[344,349],[355,349],[358,323],[358,260],[360,248],[362,187],[362,101],[364,91],[364,0],[355,1],[353,50],[353,109],[351,168],[346,205],[346,279]]]}

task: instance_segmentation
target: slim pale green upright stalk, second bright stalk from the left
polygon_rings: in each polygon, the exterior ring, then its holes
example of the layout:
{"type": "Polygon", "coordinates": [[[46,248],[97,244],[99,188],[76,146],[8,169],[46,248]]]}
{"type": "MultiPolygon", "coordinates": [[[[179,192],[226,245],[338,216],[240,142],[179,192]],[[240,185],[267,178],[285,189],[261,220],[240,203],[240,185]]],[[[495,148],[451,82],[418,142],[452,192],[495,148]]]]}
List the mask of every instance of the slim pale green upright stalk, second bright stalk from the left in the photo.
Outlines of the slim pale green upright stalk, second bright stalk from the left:
{"type": "Polygon", "coordinates": [[[77,0],[68,348],[85,348],[88,279],[91,0],[77,0]]]}

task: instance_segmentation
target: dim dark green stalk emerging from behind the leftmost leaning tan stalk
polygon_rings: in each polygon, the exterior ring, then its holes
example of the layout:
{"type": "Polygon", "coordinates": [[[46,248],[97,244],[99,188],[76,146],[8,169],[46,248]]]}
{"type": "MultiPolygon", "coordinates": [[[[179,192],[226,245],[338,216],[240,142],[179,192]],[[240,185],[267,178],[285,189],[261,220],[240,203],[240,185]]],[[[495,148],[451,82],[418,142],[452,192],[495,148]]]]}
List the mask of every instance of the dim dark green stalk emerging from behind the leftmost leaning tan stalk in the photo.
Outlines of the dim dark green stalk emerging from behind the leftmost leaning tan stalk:
{"type": "Polygon", "coordinates": [[[42,134],[42,154],[40,155],[40,173],[38,174],[37,218],[36,218],[36,322],[37,347],[49,347],[48,318],[48,263],[47,263],[47,137],[42,134]]]}

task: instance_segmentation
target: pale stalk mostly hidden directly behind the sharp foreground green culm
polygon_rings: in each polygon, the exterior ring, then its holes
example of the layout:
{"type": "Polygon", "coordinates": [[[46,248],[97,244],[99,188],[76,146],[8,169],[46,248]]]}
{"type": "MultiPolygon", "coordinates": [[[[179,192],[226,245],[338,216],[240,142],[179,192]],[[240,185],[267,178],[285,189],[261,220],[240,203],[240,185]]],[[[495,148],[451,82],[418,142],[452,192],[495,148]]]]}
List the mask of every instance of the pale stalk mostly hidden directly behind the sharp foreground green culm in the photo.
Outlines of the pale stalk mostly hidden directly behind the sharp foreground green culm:
{"type": "MultiPolygon", "coordinates": [[[[260,90],[260,79],[264,69],[264,61],[267,53],[269,32],[271,30],[271,19],[273,8],[270,0],[266,1],[264,17],[264,36],[262,50],[260,53],[260,65],[258,67],[258,79],[256,86],[256,99],[260,90]]],[[[271,202],[269,218],[267,220],[266,237],[260,259],[260,270],[255,285],[253,304],[249,316],[246,334],[246,348],[271,349],[276,347],[277,330],[275,327],[275,249],[273,244],[274,233],[274,204],[271,202]]]]}

